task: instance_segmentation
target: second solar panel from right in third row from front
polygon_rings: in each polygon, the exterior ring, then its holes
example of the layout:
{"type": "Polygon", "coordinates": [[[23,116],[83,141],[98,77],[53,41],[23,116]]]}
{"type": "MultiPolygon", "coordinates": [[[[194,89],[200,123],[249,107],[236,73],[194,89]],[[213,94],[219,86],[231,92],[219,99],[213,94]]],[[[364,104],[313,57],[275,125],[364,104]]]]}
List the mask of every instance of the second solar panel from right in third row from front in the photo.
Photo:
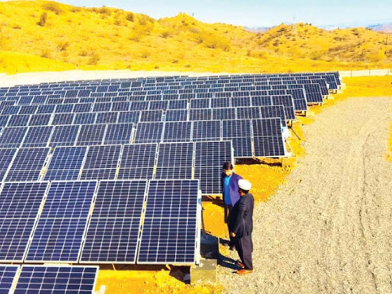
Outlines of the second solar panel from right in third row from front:
{"type": "Polygon", "coordinates": [[[155,178],[192,178],[193,148],[194,143],[159,144],[155,178]]]}

